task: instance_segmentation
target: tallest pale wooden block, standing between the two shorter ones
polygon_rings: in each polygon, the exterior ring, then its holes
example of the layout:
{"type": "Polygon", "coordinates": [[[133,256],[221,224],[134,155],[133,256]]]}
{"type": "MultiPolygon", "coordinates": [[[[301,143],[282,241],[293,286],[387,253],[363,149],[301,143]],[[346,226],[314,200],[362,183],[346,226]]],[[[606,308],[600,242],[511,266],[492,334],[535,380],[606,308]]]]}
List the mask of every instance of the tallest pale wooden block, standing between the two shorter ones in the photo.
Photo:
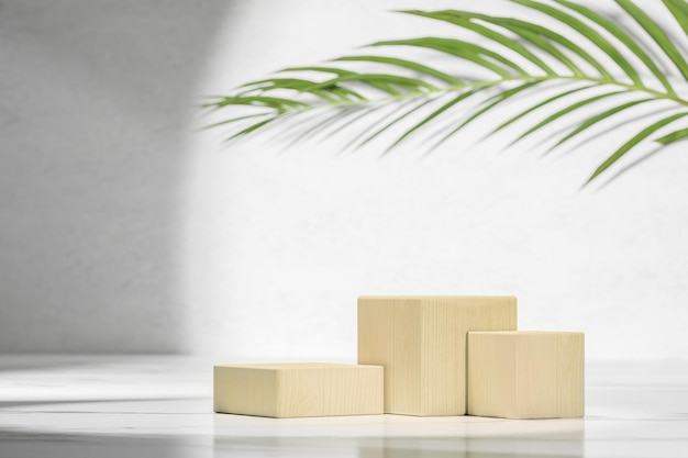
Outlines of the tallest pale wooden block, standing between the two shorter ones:
{"type": "Polygon", "coordinates": [[[466,333],[515,329],[513,297],[360,297],[358,364],[385,367],[385,412],[466,413],[466,333]]]}

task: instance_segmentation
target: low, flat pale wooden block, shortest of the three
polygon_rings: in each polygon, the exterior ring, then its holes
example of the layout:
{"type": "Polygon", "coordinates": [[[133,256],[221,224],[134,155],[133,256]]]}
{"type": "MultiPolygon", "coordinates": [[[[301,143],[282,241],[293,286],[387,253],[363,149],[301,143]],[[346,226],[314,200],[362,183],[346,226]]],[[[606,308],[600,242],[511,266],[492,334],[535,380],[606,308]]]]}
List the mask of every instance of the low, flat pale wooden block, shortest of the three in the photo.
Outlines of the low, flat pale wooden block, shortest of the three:
{"type": "Polygon", "coordinates": [[[382,370],[320,362],[215,366],[214,411],[277,418],[381,414],[382,370]]]}

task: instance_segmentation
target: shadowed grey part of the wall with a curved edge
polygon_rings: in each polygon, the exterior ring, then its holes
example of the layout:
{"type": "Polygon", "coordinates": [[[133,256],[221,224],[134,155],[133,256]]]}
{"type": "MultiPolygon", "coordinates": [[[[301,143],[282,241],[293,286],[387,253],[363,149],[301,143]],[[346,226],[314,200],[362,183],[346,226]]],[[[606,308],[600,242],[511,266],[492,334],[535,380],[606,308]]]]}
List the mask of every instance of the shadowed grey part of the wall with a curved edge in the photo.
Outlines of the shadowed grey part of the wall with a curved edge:
{"type": "Polygon", "coordinates": [[[226,2],[0,1],[0,351],[177,351],[176,197],[226,2]]]}

